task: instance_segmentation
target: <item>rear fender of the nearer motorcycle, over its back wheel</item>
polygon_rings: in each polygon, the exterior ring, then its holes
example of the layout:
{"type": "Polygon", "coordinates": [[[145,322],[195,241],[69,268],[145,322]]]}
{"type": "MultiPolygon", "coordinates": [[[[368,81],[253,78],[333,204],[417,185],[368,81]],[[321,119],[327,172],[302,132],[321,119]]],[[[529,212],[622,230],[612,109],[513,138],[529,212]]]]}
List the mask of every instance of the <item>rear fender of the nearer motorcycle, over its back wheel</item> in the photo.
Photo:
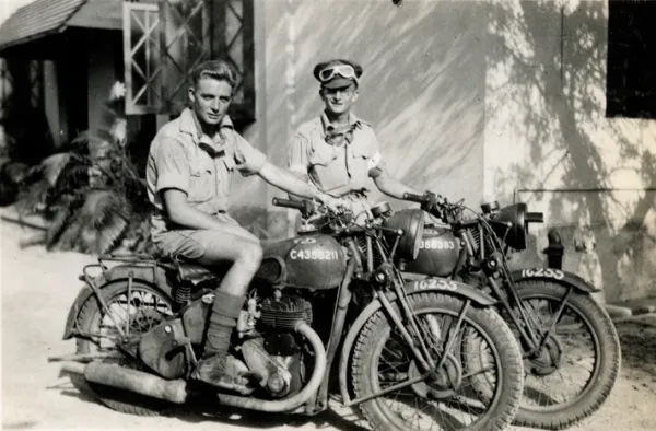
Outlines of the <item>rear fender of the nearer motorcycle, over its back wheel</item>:
{"type": "MultiPolygon", "coordinates": [[[[103,289],[112,286],[114,282],[129,280],[130,276],[132,277],[133,281],[156,287],[162,291],[162,293],[168,295],[169,298],[173,296],[173,287],[166,278],[166,272],[164,268],[157,266],[118,265],[92,278],[92,282],[102,291],[103,289]]],[[[65,340],[68,340],[73,336],[73,329],[75,327],[75,322],[78,321],[78,315],[80,314],[82,306],[93,295],[93,289],[89,284],[85,284],[78,293],[78,296],[75,298],[75,301],[73,301],[73,305],[71,305],[71,310],[69,310],[69,314],[66,319],[66,327],[63,329],[65,340]]]]}

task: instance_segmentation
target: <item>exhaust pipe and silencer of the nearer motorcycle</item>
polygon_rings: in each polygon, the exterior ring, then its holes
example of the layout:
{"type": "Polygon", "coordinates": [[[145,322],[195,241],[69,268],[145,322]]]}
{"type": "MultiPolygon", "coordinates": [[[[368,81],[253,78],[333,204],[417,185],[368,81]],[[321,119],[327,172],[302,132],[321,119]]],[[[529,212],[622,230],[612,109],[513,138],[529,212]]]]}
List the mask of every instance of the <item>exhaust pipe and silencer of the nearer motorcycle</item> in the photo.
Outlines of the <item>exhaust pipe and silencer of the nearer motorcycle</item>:
{"type": "MultiPolygon", "coordinates": [[[[226,406],[267,412],[290,411],[307,401],[307,399],[317,392],[321,384],[321,380],[324,378],[324,373],[326,372],[326,350],[324,349],[324,343],[317,333],[315,333],[306,323],[298,322],[295,330],[309,341],[316,358],[312,377],[300,393],[292,397],[273,401],[219,394],[219,401],[226,406]]],[[[69,363],[62,366],[62,371],[83,374],[84,378],[92,383],[130,391],[174,404],[185,404],[187,400],[187,382],[181,378],[167,381],[142,371],[125,369],[119,365],[103,362],[91,362],[86,365],[81,363],[69,363]]]]}

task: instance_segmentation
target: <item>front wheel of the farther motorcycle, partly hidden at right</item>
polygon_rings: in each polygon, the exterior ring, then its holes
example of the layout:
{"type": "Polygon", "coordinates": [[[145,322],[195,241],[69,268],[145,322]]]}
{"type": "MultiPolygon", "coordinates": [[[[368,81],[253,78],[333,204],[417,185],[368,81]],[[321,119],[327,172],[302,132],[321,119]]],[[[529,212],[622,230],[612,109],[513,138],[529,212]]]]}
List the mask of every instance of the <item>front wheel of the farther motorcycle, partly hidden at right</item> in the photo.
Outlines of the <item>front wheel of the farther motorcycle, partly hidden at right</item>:
{"type": "Polygon", "coordinates": [[[573,292],[558,322],[566,290],[547,281],[517,283],[519,296],[542,333],[541,349],[524,363],[524,397],[515,423],[563,429],[590,416],[610,394],[620,368],[620,343],[608,314],[591,296],[573,292]]]}

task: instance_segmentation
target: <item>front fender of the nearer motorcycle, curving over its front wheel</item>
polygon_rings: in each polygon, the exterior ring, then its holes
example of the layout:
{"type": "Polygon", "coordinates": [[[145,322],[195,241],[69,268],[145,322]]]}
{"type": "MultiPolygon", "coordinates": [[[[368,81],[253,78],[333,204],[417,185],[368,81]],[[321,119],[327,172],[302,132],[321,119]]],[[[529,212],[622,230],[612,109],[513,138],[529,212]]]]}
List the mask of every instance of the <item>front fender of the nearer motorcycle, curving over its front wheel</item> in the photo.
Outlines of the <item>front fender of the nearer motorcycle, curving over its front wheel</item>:
{"type": "MultiPolygon", "coordinates": [[[[491,306],[497,303],[497,301],[492,296],[476,290],[469,284],[440,277],[429,277],[418,281],[406,281],[406,290],[408,291],[409,296],[424,292],[434,292],[468,299],[482,306],[491,306]]],[[[389,302],[394,303],[396,301],[396,295],[394,293],[388,293],[387,299],[389,302]]],[[[380,307],[383,307],[383,305],[379,301],[372,301],[366,307],[364,307],[355,322],[353,322],[353,325],[351,325],[351,329],[349,329],[349,334],[347,334],[347,338],[342,345],[341,357],[339,361],[339,385],[342,394],[342,400],[344,403],[348,403],[351,399],[347,383],[347,372],[350,366],[349,356],[353,349],[353,343],[355,342],[358,334],[360,334],[366,324],[366,321],[368,321],[374,313],[380,310],[380,307]]]]}

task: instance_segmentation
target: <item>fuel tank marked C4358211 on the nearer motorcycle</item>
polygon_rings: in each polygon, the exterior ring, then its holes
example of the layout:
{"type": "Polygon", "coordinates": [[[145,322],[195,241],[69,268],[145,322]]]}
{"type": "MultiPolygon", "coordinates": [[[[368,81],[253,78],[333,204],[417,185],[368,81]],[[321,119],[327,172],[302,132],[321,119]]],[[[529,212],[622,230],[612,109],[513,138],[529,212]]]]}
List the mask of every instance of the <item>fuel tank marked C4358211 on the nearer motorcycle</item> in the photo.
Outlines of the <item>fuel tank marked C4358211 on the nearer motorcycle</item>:
{"type": "Polygon", "coordinates": [[[345,270],[341,245],[331,236],[317,234],[281,241],[265,249],[256,277],[278,286],[332,289],[345,270]]]}

